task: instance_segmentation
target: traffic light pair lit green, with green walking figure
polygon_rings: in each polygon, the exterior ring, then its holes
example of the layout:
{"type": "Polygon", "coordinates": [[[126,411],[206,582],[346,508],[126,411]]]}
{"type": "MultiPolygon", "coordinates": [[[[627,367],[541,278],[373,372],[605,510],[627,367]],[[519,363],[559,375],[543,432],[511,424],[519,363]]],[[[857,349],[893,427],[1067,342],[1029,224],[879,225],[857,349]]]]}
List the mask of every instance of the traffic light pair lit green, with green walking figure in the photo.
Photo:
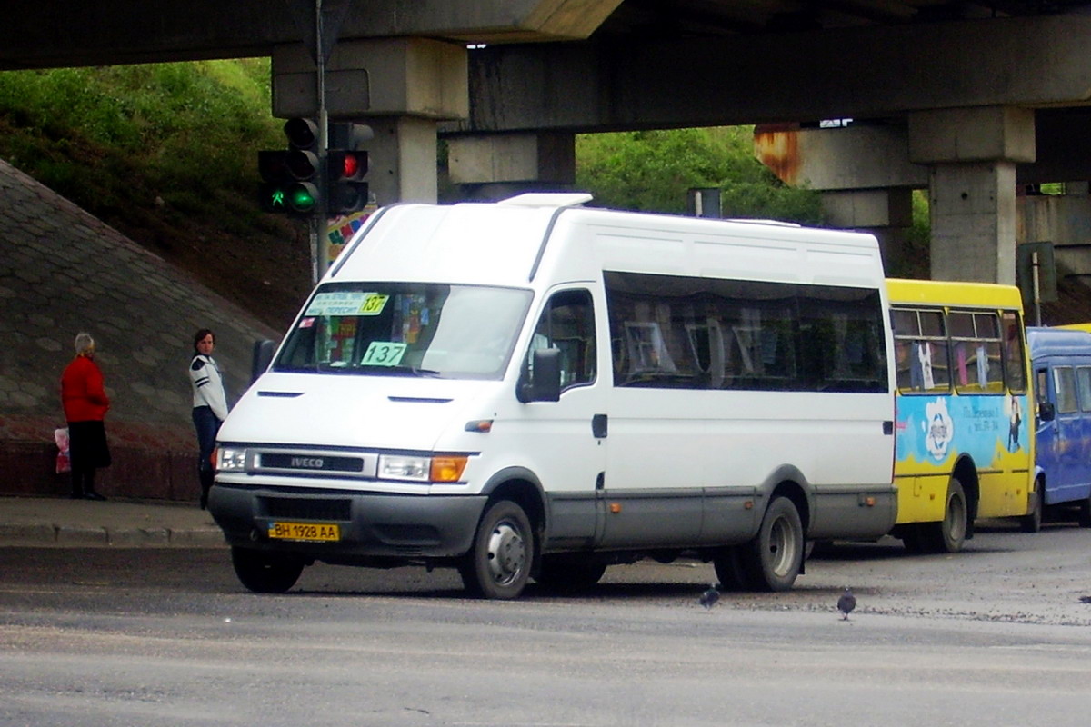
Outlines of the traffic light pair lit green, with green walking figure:
{"type": "Polygon", "coordinates": [[[304,217],[317,211],[321,178],[316,132],[317,125],[310,119],[289,119],[284,124],[288,148],[257,153],[262,209],[304,217]]]}

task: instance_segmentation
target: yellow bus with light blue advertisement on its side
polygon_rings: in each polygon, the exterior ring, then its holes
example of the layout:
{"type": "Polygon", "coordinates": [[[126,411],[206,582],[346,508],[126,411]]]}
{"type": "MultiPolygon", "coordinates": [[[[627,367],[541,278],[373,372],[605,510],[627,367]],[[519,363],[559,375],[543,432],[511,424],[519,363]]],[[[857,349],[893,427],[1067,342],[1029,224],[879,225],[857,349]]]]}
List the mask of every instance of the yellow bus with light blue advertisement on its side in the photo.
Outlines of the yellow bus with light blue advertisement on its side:
{"type": "Polygon", "coordinates": [[[955,553],[979,518],[1020,517],[1035,530],[1019,289],[888,279],[887,291],[898,375],[891,534],[911,552],[955,553]]]}

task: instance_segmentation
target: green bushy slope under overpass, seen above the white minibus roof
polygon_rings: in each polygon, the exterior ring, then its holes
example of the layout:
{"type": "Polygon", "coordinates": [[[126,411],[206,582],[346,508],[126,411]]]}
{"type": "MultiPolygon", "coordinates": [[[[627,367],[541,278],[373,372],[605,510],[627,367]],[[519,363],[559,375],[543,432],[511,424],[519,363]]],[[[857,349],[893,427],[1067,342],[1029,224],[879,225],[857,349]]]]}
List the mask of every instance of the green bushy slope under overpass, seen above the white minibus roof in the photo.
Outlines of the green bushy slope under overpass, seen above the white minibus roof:
{"type": "Polygon", "coordinates": [[[823,221],[817,193],[784,186],[754,157],[753,126],[580,135],[576,186],[599,205],[664,213],[687,211],[692,187],[716,187],[723,217],[823,221]]]}

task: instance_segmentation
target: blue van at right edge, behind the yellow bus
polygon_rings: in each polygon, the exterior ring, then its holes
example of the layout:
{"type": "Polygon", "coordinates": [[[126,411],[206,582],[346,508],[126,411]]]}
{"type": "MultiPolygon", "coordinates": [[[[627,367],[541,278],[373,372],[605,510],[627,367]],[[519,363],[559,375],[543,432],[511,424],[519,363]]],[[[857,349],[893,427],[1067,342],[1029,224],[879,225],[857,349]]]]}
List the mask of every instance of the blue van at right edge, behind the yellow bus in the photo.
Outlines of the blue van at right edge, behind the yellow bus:
{"type": "Polygon", "coordinates": [[[1072,506],[1078,507],[1079,524],[1091,528],[1091,332],[1028,327],[1027,343],[1038,400],[1039,507],[1027,517],[1023,530],[1038,530],[1047,509],[1072,506]]]}

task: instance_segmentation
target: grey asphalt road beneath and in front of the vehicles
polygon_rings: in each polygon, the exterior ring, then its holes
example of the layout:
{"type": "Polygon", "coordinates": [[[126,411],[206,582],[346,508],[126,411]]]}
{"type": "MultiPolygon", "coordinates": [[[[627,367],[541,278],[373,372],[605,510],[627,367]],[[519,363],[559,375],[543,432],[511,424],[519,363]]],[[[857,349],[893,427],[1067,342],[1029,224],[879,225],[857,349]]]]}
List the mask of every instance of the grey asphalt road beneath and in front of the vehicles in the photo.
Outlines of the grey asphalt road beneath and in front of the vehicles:
{"type": "Polygon", "coordinates": [[[315,566],[254,595],[227,559],[0,548],[0,725],[1059,727],[1091,707],[1091,530],[1072,526],[946,557],[839,546],[790,593],[709,610],[698,564],[485,602],[416,568],[315,566]]]}

